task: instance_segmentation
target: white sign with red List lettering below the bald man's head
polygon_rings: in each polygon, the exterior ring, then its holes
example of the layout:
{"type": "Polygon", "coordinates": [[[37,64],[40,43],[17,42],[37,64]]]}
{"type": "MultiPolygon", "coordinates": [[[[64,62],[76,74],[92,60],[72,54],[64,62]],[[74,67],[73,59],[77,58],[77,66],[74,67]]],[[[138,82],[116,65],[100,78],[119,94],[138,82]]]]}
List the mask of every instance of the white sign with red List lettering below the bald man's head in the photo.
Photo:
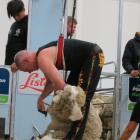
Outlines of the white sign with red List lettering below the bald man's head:
{"type": "Polygon", "coordinates": [[[18,93],[40,94],[47,82],[41,71],[34,71],[30,74],[20,72],[18,84],[18,93]]]}

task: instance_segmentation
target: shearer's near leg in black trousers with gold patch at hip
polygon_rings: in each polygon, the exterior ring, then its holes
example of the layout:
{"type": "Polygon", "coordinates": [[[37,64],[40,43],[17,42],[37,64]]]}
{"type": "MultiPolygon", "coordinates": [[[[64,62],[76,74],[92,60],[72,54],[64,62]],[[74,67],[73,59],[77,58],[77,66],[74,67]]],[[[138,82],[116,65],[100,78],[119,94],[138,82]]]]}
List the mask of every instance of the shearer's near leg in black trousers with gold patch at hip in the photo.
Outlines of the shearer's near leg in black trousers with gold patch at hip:
{"type": "Polygon", "coordinates": [[[84,106],[84,117],[80,123],[80,128],[76,134],[75,140],[82,140],[88,118],[90,101],[92,100],[94,92],[97,88],[103,64],[103,52],[98,46],[94,46],[93,51],[91,51],[91,54],[89,55],[89,58],[83,65],[83,69],[79,78],[79,82],[81,82],[79,85],[86,92],[86,102],[84,106]]]}

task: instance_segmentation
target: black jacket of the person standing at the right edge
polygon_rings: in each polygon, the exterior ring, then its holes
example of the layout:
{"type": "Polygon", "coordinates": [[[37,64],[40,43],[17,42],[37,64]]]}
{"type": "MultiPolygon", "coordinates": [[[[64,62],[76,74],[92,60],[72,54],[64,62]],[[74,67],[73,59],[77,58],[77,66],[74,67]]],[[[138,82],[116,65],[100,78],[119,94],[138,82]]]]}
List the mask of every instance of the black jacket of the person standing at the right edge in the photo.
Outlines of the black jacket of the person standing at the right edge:
{"type": "Polygon", "coordinates": [[[140,69],[140,35],[136,34],[133,39],[127,42],[122,65],[127,73],[140,69]]]}

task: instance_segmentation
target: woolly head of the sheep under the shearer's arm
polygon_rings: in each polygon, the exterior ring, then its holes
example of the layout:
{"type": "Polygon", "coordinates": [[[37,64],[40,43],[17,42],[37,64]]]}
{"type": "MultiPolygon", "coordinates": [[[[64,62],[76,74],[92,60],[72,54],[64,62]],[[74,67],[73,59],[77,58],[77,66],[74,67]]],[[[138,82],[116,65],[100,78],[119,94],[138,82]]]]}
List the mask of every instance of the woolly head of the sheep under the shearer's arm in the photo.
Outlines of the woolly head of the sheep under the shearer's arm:
{"type": "Polygon", "coordinates": [[[84,103],[84,91],[80,87],[67,85],[64,90],[56,92],[48,112],[60,121],[76,121],[83,117],[81,107],[84,103]]]}

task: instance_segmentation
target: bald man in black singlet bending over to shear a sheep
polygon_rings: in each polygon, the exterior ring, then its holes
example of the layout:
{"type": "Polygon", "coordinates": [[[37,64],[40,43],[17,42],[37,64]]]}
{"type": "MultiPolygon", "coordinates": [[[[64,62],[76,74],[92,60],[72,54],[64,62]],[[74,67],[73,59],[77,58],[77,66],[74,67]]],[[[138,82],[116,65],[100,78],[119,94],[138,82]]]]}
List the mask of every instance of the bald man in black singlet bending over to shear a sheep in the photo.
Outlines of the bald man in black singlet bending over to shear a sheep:
{"type": "MultiPolygon", "coordinates": [[[[58,61],[60,60],[58,60],[58,49],[56,46],[57,41],[54,41],[39,48],[37,52],[29,53],[27,51],[21,51],[16,54],[15,63],[21,71],[32,72],[40,69],[44,73],[47,84],[38,98],[37,107],[40,111],[45,110],[44,98],[52,91],[63,90],[66,83],[80,86],[85,91],[85,114],[80,126],[81,129],[79,129],[77,136],[75,136],[76,131],[69,132],[66,136],[67,140],[71,140],[73,137],[76,140],[81,140],[89,112],[90,101],[96,90],[104,64],[104,55],[97,44],[75,39],[65,39],[64,58],[66,70],[70,71],[65,83],[58,71],[64,68],[62,63],[58,65],[58,61]]],[[[74,129],[71,130],[73,131],[74,129]]]]}

